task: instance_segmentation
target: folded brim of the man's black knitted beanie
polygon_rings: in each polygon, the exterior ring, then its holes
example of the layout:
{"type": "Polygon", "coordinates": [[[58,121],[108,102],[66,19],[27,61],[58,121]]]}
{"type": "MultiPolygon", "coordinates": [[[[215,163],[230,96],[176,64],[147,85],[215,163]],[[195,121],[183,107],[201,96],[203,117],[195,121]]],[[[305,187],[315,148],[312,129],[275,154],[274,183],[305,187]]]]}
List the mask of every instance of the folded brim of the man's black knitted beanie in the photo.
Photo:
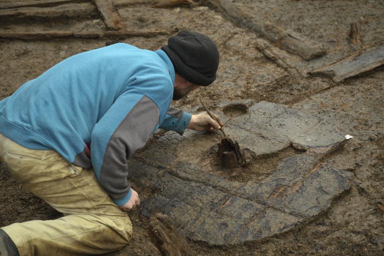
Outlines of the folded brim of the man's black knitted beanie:
{"type": "Polygon", "coordinates": [[[173,50],[168,46],[164,45],[161,47],[163,51],[168,55],[170,60],[172,61],[174,70],[184,77],[187,81],[194,83],[196,85],[207,86],[211,84],[216,79],[216,74],[213,76],[204,76],[201,73],[193,70],[189,66],[187,66],[173,50]]]}

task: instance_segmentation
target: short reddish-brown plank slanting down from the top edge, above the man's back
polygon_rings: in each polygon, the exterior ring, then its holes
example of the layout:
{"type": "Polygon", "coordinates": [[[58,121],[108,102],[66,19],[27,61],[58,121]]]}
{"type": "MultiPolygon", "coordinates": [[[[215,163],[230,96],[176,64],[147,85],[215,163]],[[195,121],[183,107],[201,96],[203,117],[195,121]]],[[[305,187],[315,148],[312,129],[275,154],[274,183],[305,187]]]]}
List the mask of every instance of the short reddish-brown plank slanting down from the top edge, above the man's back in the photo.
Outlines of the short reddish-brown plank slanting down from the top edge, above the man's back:
{"type": "Polygon", "coordinates": [[[125,26],[112,0],[93,0],[106,27],[110,30],[124,30],[125,26]]]}

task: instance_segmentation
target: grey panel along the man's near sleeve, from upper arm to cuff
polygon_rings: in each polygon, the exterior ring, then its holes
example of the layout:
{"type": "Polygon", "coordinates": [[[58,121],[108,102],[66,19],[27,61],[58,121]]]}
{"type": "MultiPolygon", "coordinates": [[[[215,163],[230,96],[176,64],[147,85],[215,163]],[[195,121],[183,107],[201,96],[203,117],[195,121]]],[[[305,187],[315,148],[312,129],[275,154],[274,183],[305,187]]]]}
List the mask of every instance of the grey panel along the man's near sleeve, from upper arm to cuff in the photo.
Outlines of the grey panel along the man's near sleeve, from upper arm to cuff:
{"type": "Polygon", "coordinates": [[[143,96],[117,126],[106,146],[99,181],[112,199],[129,192],[126,159],[143,147],[159,118],[158,106],[143,96]]]}

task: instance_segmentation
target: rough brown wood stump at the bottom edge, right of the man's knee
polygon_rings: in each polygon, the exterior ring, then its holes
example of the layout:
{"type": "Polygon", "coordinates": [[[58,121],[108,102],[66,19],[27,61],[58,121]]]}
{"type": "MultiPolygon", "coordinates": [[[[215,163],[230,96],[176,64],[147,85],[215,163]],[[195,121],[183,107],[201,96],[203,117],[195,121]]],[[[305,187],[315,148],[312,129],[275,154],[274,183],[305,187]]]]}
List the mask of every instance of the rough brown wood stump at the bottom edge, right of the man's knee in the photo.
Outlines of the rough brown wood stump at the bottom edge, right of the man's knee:
{"type": "Polygon", "coordinates": [[[172,219],[165,214],[152,215],[146,232],[162,256],[197,256],[185,238],[177,231],[172,219]]]}

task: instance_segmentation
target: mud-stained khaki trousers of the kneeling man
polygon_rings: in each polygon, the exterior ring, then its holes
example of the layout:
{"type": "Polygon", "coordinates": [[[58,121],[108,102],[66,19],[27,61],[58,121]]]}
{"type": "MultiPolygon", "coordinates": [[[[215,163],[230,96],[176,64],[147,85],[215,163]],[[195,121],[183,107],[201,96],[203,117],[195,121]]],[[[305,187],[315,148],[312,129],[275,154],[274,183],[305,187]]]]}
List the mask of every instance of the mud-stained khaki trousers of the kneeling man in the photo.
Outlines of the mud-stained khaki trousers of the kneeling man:
{"type": "Polygon", "coordinates": [[[92,169],[73,166],[53,150],[25,148],[1,133],[0,160],[26,189],[64,215],[1,227],[20,255],[101,254],[128,243],[132,224],[92,169]]]}

